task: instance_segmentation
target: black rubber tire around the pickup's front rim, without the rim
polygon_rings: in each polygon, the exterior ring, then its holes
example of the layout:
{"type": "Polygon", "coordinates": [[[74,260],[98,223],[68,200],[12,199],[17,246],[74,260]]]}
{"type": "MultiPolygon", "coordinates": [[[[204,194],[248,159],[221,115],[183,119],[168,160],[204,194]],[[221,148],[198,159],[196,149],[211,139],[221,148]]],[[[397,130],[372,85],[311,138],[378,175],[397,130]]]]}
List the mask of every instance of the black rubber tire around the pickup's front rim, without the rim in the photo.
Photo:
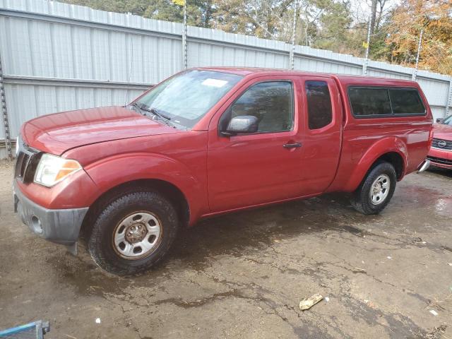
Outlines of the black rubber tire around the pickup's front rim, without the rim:
{"type": "MultiPolygon", "coordinates": [[[[177,212],[166,198],[153,191],[132,191],[115,198],[100,210],[90,232],[88,251],[100,268],[117,275],[148,270],[169,251],[179,229],[177,212]],[[133,213],[150,213],[158,219],[161,234],[155,248],[143,258],[123,258],[114,246],[114,234],[121,220],[133,213]]],[[[122,231],[124,234],[126,230],[122,231]]],[[[146,237],[146,236],[145,236],[146,237]]]]}

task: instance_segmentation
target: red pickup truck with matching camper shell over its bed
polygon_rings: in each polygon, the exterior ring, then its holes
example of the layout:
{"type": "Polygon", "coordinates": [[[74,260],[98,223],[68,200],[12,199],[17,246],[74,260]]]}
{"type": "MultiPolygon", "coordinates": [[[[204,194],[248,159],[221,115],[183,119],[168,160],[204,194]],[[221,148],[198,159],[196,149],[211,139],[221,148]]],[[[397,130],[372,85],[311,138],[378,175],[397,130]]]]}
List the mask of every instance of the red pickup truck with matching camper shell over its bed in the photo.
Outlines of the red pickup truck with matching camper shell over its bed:
{"type": "Polygon", "coordinates": [[[270,69],[178,73],[126,107],[20,129],[15,206],[32,232],[137,273],[200,218],[326,192],[364,214],[429,166],[432,112],[412,81],[270,69]]]}

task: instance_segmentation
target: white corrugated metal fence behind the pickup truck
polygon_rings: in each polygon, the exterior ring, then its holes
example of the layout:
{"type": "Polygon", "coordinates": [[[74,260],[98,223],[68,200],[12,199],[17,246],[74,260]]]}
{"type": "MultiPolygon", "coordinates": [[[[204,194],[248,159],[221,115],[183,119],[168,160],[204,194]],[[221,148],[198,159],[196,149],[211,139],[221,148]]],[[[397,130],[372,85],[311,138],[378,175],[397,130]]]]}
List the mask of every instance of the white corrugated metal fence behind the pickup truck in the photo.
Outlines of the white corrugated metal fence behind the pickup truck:
{"type": "MultiPolygon", "coordinates": [[[[11,138],[24,121],[69,109],[122,105],[181,71],[180,23],[47,0],[0,0],[0,57],[11,138]]],[[[291,46],[189,26],[187,63],[195,66],[289,67],[291,46]]],[[[364,59],[295,47],[295,69],[362,74],[364,59]]],[[[414,69],[369,61],[367,74],[411,79],[414,69]]],[[[0,71],[1,78],[1,71],[0,71]]],[[[417,72],[435,117],[451,106],[449,76],[417,72]]],[[[0,140],[5,139],[0,119],[0,140]]],[[[5,157],[0,145],[0,157],[5,157]]]]}

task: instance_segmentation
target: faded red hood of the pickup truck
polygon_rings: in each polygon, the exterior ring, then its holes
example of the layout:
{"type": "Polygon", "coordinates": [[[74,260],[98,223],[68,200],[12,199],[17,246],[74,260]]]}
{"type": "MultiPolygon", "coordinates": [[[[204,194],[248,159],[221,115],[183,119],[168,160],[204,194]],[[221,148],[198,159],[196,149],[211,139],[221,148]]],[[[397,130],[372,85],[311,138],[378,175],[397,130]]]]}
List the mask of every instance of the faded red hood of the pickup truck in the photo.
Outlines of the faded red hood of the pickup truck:
{"type": "Polygon", "coordinates": [[[44,115],[23,124],[20,133],[32,148],[61,155],[83,145],[177,130],[124,107],[100,107],[44,115]]]}

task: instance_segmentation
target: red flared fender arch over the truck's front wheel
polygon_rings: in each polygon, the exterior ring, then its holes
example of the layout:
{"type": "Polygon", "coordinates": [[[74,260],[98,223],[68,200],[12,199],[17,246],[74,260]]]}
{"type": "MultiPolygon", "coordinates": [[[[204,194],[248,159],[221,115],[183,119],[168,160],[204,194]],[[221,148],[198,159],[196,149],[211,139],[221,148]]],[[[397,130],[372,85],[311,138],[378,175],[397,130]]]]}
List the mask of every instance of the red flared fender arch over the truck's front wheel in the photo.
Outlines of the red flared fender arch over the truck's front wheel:
{"type": "Polygon", "coordinates": [[[128,153],[99,160],[85,167],[98,186],[91,203],[120,184],[140,179],[158,179],[176,186],[190,208],[190,223],[208,206],[206,188],[182,162],[157,153],[128,153]]]}

